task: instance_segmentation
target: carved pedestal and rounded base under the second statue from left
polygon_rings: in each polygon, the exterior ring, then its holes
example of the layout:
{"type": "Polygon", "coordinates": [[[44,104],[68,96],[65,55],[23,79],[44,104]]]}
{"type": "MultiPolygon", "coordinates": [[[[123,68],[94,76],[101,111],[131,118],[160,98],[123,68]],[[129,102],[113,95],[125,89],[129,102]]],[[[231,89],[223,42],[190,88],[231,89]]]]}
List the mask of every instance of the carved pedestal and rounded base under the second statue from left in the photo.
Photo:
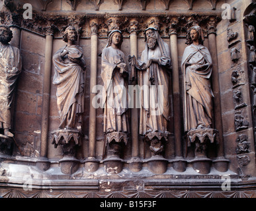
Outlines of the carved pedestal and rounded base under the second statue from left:
{"type": "Polygon", "coordinates": [[[76,146],[81,145],[81,131],[76,129],[62,129],[52,133],[52,144],[57,148],[62,147],[64,158],[60,162],[60,169],[64,174],[72,174],[79,167],[79,160],[76,156],[76,146]]]}

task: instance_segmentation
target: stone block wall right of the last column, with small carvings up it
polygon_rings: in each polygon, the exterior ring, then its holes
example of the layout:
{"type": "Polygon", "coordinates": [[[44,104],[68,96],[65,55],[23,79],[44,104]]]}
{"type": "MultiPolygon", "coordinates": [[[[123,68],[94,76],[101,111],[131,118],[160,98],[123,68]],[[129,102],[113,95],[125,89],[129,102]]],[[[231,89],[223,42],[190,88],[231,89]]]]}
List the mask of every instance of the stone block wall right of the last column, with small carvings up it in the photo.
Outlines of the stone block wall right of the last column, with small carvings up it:
{"type": "Polygon", "coordinates": [[[226,158],[230,160],[230,169],[237,171],[243,169],[246,175],[255,175],[255,136],[253,132],[253,107],[250,100],[249,69],[247,57],[246,34],[247,26],[243,21],[243,11],[249,5],[249,1],[229,1],[231,7],[235,7],[234,21],[222,19],[217,26],[216,41],[218,49],[218,70],[220,75],[220,95],[222,102],[222,124],[224,132],[224,148],[226,158]],[[228,41],[228,33],[237,32],[237,38],[228,41]],[[232,48],[239,49],[238,61],[232,61],[232,48]],[[232,82],[232,73],[237,71],[239,76],[237,82],[232,82]],[[234,94],[241,92],[241,102],[237,103],[234,94]],[[244,104],[236,108],[238,104],[244,104]],[[243,129],[235,127],[235,115],[241,114],[249,125],[243,129]],[[250,143],[249,152],[237,154],[237,138],[239,135],[246,135],[250,143]],[[239,158],[240,157],[240,158],[239,158]],[[247,159],[249,158],[249,160],[247,159]],[[243,161],[249,161],[243,163],[243,161]]]}

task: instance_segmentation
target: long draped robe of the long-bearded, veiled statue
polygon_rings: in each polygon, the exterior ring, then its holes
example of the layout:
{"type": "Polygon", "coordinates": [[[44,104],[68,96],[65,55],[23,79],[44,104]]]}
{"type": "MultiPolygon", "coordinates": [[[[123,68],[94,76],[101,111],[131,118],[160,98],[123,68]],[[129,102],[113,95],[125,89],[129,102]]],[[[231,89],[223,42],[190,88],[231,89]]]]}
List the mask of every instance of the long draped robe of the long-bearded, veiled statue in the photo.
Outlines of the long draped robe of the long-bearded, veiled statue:
{"type": "Polygon", "coordinates": [[[169,121],[169,71],[171,59],[169,46],[160,41],[159,35],[155,49],[142,51],[142,61],[136,65],[140,86],[140,135],[146,133],[166,133],[169,121]],[[158,59],[146,67],[148,60],[158,59]],[[138,67],[140,66],[140,67],[138,67]],[[146,69],[144,69],[146,67],[146,69]]]}

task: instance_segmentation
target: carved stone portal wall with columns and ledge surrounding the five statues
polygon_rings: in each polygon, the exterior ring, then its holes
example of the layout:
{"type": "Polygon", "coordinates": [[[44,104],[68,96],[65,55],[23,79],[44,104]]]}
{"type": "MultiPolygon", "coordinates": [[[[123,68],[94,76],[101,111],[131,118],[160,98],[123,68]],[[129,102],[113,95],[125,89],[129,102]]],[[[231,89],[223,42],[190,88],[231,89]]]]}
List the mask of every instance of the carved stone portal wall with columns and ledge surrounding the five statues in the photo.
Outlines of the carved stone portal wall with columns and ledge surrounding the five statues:
{"type": "MultiPolygon", "coordinates": [[[[11,45],[21,51],[22,72],[12,108],[14,137],[0,136],[0,196],[255,196],[256,86],[250,78],[255,62],[249,59],[255,34],[248,27],[255,24],[255,4],[230,0],[231,18],[222,18],[224,3],[2,1],[0,21],[13,30],[11,45]],[[32,19],[24,18],[25,3],[32,6],[32,19]],[[181,59],[187,31],[196,25],[213,60],[214,119],[204,133],[185,133],[181,59]],[[75,27],[76,44],[85,57],[84,112],[79,131],[56,132],[60,119],[52,57],[65,46],[67,26],[75,27]],[[92,106],[99,91],[92,88],[103,86],[101,56],[108,32],[122,32],[121,50],[128,64],[129,55],[141,58],[148,27],[157,28],[171,50],[167,133],[140,136],[140,109],[130,108],[130,133],[106,137],[104,111],[92,106]],[[221,188],[225,176],[234,185],[232,193],[221,188]],[[26,181],[36,189],[22,189],[26,181]]],[[[136,80],[130,78],[129,84],[136,85],[136,80]]]]}

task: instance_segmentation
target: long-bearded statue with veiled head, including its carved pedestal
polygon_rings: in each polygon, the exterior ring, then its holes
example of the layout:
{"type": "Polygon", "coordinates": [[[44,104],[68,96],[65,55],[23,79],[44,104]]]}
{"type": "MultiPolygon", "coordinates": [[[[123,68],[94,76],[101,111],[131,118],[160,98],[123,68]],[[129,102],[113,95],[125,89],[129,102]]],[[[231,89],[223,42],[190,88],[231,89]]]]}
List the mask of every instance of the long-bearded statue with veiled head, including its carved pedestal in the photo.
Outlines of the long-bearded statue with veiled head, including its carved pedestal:
{"type": "MultiPolygon", "coordinates": [[[[151,159],[163,157],[165,142],[168,140],[169,121],[169,78],[171,56],[169,46],[163,42],[154,27],[145,30],[146,47],[141,60],[130,57],[130,67],[136,67],[140,86],[140,135],[150,141],[151,159]]],[[[160,164],[159,164],[160,165],[160,164]]],[[[164,166],[164,164],[163,164],[164,166]]],[[[154,167],[151,171],[155,171],[154,167]]],[[[158,171],[158,169],[157,169],[158,171]]]]}

